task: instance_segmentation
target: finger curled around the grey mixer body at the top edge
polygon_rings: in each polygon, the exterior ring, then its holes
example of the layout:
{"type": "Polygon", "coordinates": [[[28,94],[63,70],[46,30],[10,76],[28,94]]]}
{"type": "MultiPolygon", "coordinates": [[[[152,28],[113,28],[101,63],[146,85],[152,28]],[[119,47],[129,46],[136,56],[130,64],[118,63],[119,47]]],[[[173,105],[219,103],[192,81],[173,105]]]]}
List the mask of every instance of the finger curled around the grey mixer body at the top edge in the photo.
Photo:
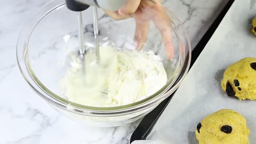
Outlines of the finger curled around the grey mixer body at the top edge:
{"type": "Polygon", "coordinates": [[[126,0],[124,5],[118,10],[119,14],[127,15],[134,13],[140,5],[140,0],[126,0]]]}

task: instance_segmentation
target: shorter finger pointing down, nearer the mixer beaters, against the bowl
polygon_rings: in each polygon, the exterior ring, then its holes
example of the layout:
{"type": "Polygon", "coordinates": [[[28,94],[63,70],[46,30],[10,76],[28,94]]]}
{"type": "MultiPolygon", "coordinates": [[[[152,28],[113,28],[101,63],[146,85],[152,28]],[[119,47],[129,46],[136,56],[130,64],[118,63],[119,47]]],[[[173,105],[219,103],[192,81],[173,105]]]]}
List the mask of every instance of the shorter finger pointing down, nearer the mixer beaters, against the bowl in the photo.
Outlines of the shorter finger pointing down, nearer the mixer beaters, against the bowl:
{"type": "Polygon", "coordinates": [[[141,50],[142,44],[147,41],[150,21],[140,9],[135,12],[133,18],[136,22],[134,41],[137,42],[137,50],[141,50]]]}

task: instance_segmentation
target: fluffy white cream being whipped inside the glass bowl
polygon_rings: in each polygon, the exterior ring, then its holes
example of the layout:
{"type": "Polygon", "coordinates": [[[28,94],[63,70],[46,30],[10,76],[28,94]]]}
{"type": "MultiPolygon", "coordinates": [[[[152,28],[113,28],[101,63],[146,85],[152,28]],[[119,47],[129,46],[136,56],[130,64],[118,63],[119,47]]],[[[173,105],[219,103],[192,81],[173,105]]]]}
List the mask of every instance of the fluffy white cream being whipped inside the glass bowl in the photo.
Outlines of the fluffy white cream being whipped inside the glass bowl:
{"type": "Polygon", "coordinates": [[[151,51],[101,46],[98,63],[94,52],[86,53],[83,62],[76,54],[70,55],[71,67],[61,80],[61,88],[68,100],[81,105],[127,105],[149,97],[167,82],[161,58],[151,51]]]}

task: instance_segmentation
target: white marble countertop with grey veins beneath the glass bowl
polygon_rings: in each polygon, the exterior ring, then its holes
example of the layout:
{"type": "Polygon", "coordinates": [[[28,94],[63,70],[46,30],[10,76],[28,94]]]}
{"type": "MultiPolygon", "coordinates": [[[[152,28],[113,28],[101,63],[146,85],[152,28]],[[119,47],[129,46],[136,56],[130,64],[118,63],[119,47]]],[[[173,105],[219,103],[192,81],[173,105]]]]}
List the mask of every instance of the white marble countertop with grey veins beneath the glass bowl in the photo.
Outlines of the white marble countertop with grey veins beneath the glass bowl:
{"type": "MultiPolygon", "coordinates": [[[[129,143],[138,122],[113,128],[83,127],[59,115],[19,73],[15,44],[22,25],[47,0],[2,1],[0,13],[0,143],[129,143]]],[[[164,1],[183,22],[194,47],[226,0],[164,1]]]]}

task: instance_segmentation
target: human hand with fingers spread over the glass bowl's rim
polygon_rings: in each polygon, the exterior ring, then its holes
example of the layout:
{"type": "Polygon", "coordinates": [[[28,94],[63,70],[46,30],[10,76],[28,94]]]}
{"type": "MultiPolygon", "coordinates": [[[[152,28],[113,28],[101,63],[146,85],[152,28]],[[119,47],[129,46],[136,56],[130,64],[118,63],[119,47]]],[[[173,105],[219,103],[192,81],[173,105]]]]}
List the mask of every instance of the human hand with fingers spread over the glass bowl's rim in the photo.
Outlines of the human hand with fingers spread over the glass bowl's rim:
{"type": "Polygon", "coordinates": [[[146,42],[149,31],[150,20],[162,35],[162,42],[166,55],[173,59],[173,42],[170,22],[171,19],[161,5],[161,0],[126,0],[125,4],[118,11],[105,12],[115,20],[134,18],[136,23],[134,41],[137,42],[137,49],[142,49],[142,44],[146,42]]]}

